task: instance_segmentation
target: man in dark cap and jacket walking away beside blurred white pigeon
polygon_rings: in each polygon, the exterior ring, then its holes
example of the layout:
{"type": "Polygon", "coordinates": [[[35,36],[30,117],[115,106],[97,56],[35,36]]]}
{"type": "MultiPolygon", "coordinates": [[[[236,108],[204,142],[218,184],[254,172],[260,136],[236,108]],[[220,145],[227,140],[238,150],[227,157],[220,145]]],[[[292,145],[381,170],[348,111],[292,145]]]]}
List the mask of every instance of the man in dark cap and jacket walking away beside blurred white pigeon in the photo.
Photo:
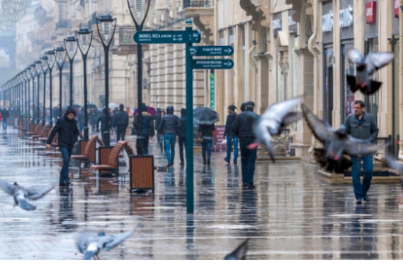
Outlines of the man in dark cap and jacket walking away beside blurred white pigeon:
{"type": "Polygon", "coordinates": [[[257,149],[248,149],[248,145],[255,140],[253,125],[259,119],[259,116],[253,113],[254,103],[247,102],[245,111],[240,113],[232,123],[231,129],[236,137],[239,138],[241,148],[241,166],[242,166],[242,187],[254,189],[253,174],[255,171],[257,149]]]}

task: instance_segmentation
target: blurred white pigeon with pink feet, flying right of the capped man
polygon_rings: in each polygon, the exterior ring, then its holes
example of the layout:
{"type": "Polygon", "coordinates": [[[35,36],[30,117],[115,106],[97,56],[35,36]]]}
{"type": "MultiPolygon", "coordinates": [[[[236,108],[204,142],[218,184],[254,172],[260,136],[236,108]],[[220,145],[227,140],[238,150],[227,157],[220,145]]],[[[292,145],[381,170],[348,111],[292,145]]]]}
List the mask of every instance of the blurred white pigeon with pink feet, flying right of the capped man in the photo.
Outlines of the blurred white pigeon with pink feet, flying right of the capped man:
{"type": "Polygon", "coordinates": [[[301,113],[292,111],[300,101],[301,99],[297,97],[268,107],[253,127],[256,142],[250,144],[248,148],[254,149],[263,144],[275,161],[272,137],[280,135],[282,128],[302,118],[301,113]]]}

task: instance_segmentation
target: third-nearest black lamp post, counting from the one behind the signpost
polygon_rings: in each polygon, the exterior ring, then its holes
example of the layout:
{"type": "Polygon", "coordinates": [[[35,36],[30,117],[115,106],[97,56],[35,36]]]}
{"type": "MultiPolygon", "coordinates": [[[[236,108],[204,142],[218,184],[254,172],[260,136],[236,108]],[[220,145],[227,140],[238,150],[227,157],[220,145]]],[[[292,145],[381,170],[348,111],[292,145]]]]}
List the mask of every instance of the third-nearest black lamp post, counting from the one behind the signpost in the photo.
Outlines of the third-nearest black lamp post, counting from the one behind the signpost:
{"type": "Polygon", "coordinates": [[[79,39],[79,49],[83,55],[84,65],[84,139],[88,139],[88,112],[87,112],[87,55],[91,47],[92,31],[87,27],[83,27],[80,31],[76,32],[79,39]]]}

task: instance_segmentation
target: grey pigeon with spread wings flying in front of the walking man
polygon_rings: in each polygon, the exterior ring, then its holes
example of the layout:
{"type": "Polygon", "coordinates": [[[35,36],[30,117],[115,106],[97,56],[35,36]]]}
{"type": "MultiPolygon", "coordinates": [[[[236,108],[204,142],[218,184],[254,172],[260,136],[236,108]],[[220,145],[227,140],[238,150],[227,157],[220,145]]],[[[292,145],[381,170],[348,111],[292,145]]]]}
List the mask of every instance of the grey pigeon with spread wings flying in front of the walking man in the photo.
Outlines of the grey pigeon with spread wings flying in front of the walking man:
{"type": "Polygon", "coordinates": [[[333,130],[329,124],[315,116],[304,104],[302,104],[302,113],[312,133],[323,143],[324,150],[317,153],[318,161],[329,171],[342,172],[351,166],[351,162],[343,156],[344,154],[369,155],[378,150],[377,145],[372,144],[369,139],[358,139],[347,134],[344,125],[340,126],[338,130],[333,130]]]}

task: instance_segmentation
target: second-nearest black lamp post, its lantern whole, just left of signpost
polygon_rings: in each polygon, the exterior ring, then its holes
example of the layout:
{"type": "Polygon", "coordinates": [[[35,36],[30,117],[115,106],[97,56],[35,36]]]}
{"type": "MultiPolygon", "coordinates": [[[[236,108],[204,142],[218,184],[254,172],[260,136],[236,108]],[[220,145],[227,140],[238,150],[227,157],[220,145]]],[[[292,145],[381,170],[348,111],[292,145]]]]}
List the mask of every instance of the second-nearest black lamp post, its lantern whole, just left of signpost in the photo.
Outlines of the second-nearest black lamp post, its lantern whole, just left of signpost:
{"type": "MultiPolygon", "coordinates": [[[[101,18],[97,18],[98,35],[101,39],[105,53],[105,108],[109,108],[109,46],[112,43],[113,35],[116,29],[116,18],[112,19],[109,14],[103,14],[101,18]],[[101,23],[101,30],[99,29],[99,22],[101,23]],[[114,24],[114,25],[113,25],[114,24]],[[113,25],[113,30],[112,30],[113,25]]],[[[110,131],[109,131],[109,112],[105,115],[105,131],[103,139],[106,146],[110,145],[110,131]]]]}

